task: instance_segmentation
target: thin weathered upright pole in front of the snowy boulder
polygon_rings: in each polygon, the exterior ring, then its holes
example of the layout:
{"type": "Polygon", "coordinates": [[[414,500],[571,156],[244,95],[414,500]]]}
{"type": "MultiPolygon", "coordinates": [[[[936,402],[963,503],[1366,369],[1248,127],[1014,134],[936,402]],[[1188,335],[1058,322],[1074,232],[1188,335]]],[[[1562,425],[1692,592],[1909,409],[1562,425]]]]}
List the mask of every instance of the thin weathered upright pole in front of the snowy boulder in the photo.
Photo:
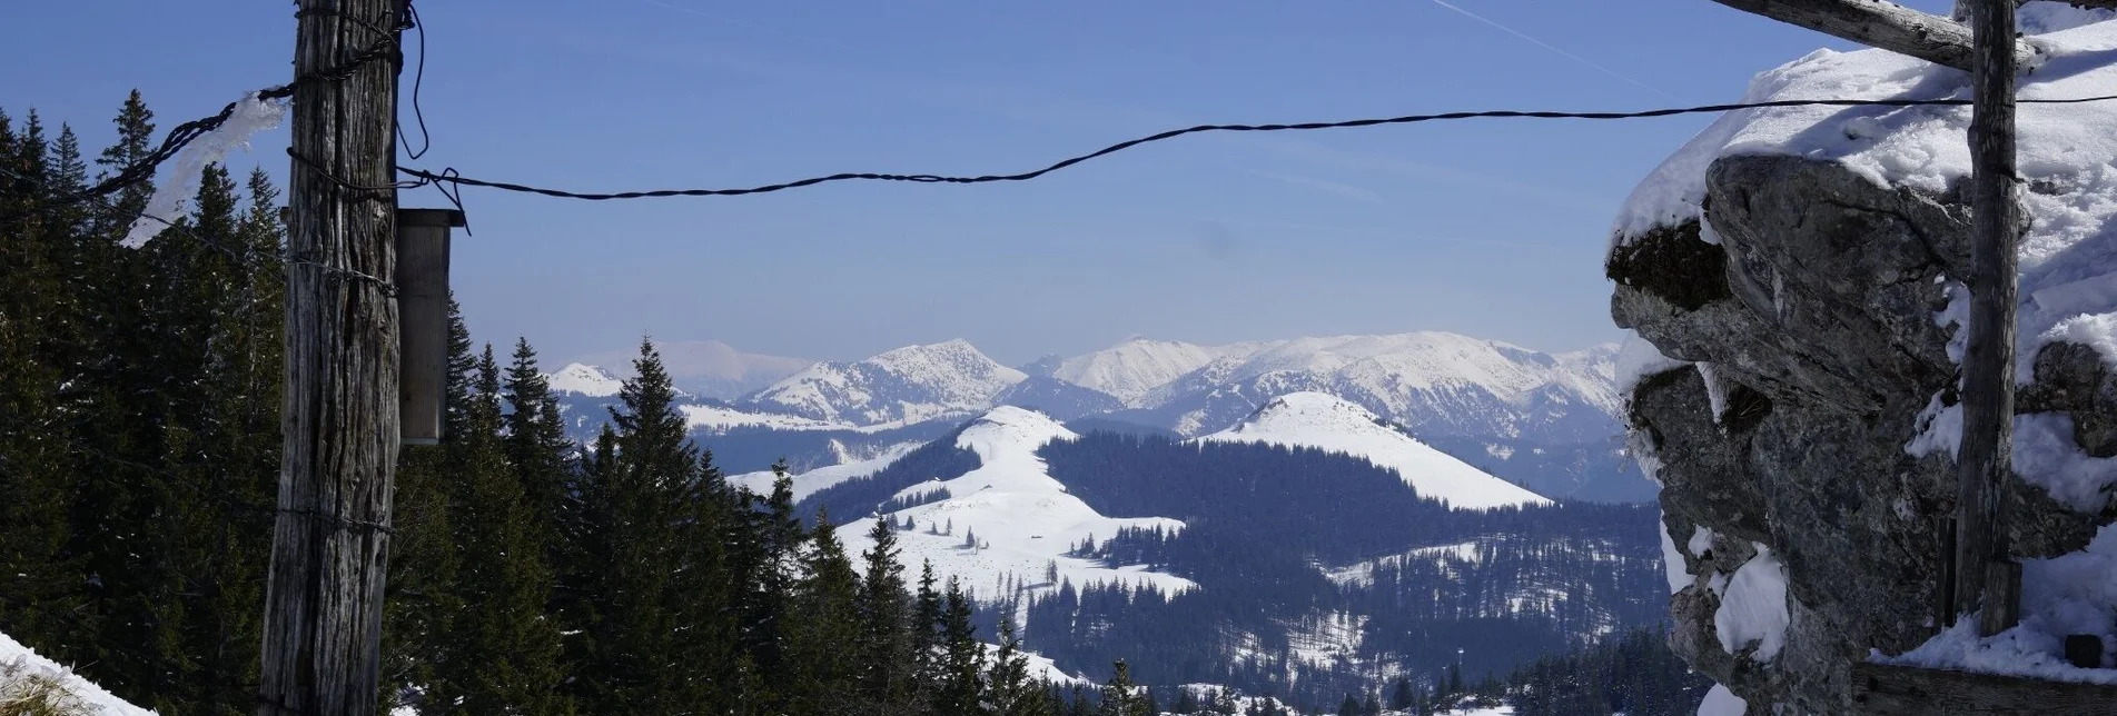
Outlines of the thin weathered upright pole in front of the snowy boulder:
{"type": "Polygon", "coordinates": [[[1971,6],[1971,324],[1962,352],[1954,608],[1992,636],[2020,621],[2022,566],[2007,551],[2013,481],[2013,309],[2020,208],[2013,178],[2013,0],[1971,6]]]}

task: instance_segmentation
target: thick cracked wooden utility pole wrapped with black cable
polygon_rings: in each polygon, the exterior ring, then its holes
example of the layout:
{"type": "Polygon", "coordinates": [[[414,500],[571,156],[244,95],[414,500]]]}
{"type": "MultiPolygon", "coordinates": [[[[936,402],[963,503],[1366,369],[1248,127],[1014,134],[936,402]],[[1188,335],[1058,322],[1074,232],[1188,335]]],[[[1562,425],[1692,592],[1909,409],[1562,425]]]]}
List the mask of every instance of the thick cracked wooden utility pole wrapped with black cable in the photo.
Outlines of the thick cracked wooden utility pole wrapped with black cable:
{"type": "Polygon", "coordinates": [[[301,0],[279,506],[260,716],[375,716],[398,458],[396,85],[402,0],[301,0]],[[383,36],[387,32],[390,36],[383,36]],[[383,189],[351,189],[351,186],[383,189]]]}

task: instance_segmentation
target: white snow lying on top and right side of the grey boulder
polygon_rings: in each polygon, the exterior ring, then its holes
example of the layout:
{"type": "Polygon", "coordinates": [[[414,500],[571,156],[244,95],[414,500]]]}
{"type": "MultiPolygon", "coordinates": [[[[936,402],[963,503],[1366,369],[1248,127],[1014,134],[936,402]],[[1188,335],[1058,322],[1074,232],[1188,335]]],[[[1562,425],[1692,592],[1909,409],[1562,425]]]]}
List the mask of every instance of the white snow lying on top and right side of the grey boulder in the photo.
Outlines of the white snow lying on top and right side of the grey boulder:
{"type": "MultiPolygon", "coordinates": [[[[2024,40],[2039,49],[2039,57],[2022,74],[2020,97],[2117,95],[2117,64],[2109,59],[2117,53],[2117,23],[2102,21],[2109,17],[2058,2],[2024,6],[2024,40]]],[[[1744,102],[1804,97],[1969,97],[1969,74],[1886,51],[1814,51],[1759,74],[1744,102]]],[[[2032,220],[2018,246],[2018,379],[2030,377],[2030,362],[2051,341],[2089,345],[2117,366],[2117,102],[2022,104],[2018,112],[2018,159],[2026,184],[2018,197],[2032,220]]],[[[1969,117],[1967,106],[1727,112],[1641,182],[1620,212],[1611,241],[1622,246],[1653,227],[1698,218],[1706,165],[1730,155],[1827,159],[1878,184],[1943,193],[1971,174],[1969,117]]],[[[1715,241],[1711,231],[1702,239],[1715,241]]],[[[1960,326],[1969,305],[1962,278],[1943,278],[1933,290],[1937,301],[1948,301],[1935,322],[1960,326]]],[[[1952,352],[1960,356],[1960,341],[1952,352]]],[[[1647,366],[1651,358],[1658,356],[1630,362],[1647,366]]],[[[1920,419],[1924,434],[1905,447],[1914,455],[1954,451],[1960,443],[1958,407],[1935,400],[1920,419]]],[[[2087,458],[2068,428],[2062,415],[2020,415],[2015,470],[2060,502],[2100,513],[2117,487],[2117,460],[2087,458]]],[[[1668,538],[1672,553],[1677,536],[1668,538]]],[[[2022,625],[2015,629],[1988,640],[1950,629],[1907,655],[1876,659],[2117,682],[2113,669],[2075,669],[2056,657],[2064,633],[2098,633],[2104,644],[2117,644],[2111,619],[2117,614],[2117,534],[2111,527],[2079,553],[2024,563],[2022,593],[2022,625]]],[[[1747,616],[1740,621],[1747,623],[1747,616]]],[[[1744,629],[1723,629],[1723,638],[1751,636],[1770,644],[1770,633],[1736,631],[1744,629]]]]}

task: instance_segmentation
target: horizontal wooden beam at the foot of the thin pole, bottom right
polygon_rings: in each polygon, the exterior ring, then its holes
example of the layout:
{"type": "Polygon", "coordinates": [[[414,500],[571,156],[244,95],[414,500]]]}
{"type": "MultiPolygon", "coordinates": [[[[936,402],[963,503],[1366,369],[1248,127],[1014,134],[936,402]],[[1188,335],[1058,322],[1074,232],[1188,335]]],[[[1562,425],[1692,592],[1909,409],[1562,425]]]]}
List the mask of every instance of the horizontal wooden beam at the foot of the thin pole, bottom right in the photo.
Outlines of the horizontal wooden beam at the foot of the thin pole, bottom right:
{"type": "Polygon", "coordinates": [[[1861,661],[1852,665],[1852,708],[1907,716],[2087,716],[2117,710],[2117,686],[1861,661]]]}

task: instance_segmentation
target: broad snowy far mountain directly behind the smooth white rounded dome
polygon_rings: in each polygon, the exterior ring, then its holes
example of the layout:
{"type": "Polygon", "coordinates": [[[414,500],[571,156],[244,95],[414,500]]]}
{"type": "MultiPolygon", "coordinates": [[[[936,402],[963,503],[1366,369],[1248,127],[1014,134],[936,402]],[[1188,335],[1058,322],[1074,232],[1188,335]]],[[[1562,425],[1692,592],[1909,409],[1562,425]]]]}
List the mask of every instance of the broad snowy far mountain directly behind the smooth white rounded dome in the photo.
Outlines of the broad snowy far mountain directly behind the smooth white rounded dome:
{"type": "Polygon", "coordinates": [[[1454,333],[1308,337],[1215,358],[1139,402],[1183,434],[1222,430],[1281,394],[1327,392],[1421,434],[1586,443],[1620,432],[1613,354],[1454,333]]]}

